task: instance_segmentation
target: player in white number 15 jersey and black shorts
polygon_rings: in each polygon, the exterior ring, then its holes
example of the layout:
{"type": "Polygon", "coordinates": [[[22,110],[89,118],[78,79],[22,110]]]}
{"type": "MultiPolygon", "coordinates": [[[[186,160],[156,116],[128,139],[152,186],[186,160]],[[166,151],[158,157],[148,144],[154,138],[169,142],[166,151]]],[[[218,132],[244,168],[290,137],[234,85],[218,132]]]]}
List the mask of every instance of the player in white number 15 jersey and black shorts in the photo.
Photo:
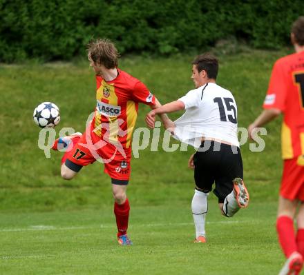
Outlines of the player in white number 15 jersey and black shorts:
{"type": "Polygon", "coordinates": [[[238,143],[237,107],[234,96],[216,84],[218,60],[201,54],[192,63],[195,90],[177,101],[167,103],[146,115],[154,128],[155,115],[185,110],[176,121],[164,125],[175,139],[193,145],[197,152],[189,159],[194,169],[196,189],[191,203],[196,243],[205,243],[207,197],[212,190],[218,196],[223,215],[231,217],[247,207],[249,194],[243,182],[243,162],[238,143]]]}

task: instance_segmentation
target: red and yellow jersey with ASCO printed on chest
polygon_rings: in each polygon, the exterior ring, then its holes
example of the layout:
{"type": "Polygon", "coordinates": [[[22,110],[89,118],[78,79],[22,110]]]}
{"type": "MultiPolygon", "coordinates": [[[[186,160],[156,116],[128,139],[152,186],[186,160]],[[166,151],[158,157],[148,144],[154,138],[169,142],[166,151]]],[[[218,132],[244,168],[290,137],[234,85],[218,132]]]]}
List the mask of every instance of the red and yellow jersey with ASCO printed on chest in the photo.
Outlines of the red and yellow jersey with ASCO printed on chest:
{"type": "Polygon", "coordinates": [[[117,71],[112,81],[96,76],[96,108],[91,131],[104,141],[129,148],[138,103],[155,105],[155,96],[135,77],[120,69],[117,71]]]}

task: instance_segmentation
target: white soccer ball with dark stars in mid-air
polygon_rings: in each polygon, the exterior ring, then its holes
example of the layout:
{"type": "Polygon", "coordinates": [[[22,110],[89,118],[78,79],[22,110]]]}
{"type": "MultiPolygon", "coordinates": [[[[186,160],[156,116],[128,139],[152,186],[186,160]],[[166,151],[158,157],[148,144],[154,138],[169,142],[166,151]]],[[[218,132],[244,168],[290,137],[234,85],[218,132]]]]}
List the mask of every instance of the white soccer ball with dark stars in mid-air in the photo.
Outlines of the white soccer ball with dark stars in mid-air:
{"type": "Polygon", "coordinates": [[[59,108],[54,103],[39,104],[32,114],[34,122],[41,128],[53,128],[60,121],[59,108]]]}

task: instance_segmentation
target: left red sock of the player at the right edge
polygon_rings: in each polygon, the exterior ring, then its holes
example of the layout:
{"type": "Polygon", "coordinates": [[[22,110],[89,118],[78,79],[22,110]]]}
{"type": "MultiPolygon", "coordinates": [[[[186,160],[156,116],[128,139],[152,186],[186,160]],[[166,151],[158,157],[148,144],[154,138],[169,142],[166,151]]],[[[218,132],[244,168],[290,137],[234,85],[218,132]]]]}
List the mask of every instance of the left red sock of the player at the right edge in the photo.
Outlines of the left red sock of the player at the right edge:
{"type": "Polygon", "coordinates": [[[276,231],[278,232],[278,241],[281,243],[282,250],[286,258],[289,258],[292,253],[297,251],[292,218],[279,216],[276,220],[276,231]]]}

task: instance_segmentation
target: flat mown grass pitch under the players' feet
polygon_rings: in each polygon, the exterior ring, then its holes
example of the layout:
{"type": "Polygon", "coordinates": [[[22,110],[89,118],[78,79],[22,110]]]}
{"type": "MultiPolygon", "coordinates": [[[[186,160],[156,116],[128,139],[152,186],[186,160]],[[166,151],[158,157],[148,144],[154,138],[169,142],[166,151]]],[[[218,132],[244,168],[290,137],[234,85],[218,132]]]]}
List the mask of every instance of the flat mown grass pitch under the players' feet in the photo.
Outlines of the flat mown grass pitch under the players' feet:
{"type": "Polygon", "coordinates": [[[132,247],[119,247],[111,207],[1,214],[1,274],[276,274],[275,203],[235,218],[210,203],[208,243],[193,241],[189,203],[134,206],[132,247]]]}

